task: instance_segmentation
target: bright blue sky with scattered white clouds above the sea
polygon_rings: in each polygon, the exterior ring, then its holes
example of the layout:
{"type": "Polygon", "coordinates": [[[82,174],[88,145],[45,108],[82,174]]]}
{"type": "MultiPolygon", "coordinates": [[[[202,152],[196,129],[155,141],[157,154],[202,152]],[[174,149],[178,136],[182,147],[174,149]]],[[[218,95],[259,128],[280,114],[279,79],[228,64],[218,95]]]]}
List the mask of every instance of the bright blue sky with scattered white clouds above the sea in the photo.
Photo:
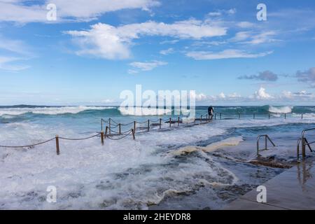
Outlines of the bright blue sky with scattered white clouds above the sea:
{"type": "Polygon", "coordinates": [[[313,0],[0,0],[0,105],[314,105],[314,56],[313,0]]]}

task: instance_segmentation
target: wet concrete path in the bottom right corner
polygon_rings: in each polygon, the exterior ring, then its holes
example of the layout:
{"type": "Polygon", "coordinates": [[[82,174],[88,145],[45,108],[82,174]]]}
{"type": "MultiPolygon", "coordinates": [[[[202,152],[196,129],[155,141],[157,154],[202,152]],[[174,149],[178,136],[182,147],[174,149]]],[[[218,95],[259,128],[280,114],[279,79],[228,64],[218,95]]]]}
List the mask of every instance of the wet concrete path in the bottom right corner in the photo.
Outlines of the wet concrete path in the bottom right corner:
{"type": "Polygon", "coordinates": [[[266,183],[267,202],[258,203],[259,192],[251,190],[228,204],[228,210],[315,209],[315,162],[299,165],[275,176],[266,183]]]}

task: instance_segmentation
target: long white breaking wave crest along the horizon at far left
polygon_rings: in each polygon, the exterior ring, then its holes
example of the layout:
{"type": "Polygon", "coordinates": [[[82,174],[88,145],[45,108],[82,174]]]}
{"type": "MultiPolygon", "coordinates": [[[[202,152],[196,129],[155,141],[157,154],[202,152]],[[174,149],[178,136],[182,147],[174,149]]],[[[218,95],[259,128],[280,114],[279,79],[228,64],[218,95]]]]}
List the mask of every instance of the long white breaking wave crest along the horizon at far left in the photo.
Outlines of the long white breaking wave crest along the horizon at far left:
{"type": "Polygon", "coordinates": [[[63,113],[80,113],[87,110],[104,110],[113,109],[114,107],[104,106],[60,106],[60,107],[35,107],[35,108],[8,108],[0,109],[0,116],[11,115],[18,116],[24,113],[36,114],[63,114],[63,113]]]}

